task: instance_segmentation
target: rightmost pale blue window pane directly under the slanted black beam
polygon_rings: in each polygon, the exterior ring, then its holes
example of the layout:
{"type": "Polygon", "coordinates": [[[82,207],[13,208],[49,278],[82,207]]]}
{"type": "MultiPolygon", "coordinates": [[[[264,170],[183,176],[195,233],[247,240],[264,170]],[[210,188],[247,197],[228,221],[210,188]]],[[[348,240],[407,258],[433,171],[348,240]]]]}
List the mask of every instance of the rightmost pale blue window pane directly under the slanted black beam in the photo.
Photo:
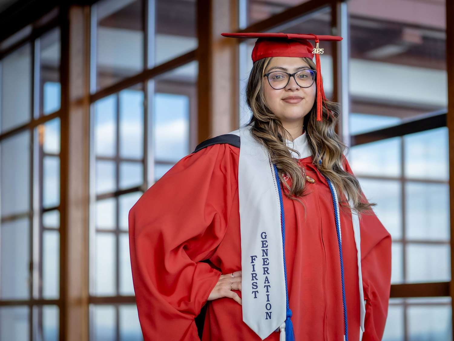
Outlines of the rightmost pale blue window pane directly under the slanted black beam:
{"type": "Polygon", "coordinates": [[[449,179],[448,128],[405,135],[405,176],[413,179],[449,179]]]}

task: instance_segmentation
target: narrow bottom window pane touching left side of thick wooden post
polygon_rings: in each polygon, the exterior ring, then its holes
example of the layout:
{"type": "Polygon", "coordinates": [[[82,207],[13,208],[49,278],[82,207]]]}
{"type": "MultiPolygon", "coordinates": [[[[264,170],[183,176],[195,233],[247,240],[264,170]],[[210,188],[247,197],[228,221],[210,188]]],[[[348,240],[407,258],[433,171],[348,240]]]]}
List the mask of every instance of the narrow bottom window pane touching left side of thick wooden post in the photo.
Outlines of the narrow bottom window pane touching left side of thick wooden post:
{"type": "Polygon", "coordinates": [[[58,306],[35,306],[33,320],[33,340],[59,340],[58,306]]]}

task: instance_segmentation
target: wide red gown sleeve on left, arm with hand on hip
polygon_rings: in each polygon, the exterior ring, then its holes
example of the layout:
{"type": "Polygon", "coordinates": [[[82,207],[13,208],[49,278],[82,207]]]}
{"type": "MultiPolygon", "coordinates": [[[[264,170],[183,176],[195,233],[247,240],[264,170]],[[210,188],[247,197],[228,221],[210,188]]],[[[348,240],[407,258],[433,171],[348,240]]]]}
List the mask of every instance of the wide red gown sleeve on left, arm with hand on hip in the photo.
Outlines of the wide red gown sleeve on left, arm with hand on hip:
{"type": "Polygon", "coordinates": [[[183,157],[129,211],[129,251],[143,338],[200,340],[194,321],[221,272],[206,262],[222,241],[238,188],[236,147],[183,157]]]}

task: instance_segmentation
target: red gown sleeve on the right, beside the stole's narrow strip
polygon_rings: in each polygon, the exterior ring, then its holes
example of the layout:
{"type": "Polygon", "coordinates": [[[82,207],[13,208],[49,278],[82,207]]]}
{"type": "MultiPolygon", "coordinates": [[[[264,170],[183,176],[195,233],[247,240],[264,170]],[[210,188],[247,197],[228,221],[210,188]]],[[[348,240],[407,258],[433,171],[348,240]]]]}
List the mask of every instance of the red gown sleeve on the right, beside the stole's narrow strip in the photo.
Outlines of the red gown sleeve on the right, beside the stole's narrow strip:
{"type": "MultiPolygon", "coordinates": [[[[345,171],[353,174],[346,158],[345,171]]],[[[363,200],[367,201],[362,193],[363,200]]],[[[360,219],[361,271],[365,298],[362,341],[380,341],[385,331],[391,288],[391,236],[375,213],[360,219]]]]}

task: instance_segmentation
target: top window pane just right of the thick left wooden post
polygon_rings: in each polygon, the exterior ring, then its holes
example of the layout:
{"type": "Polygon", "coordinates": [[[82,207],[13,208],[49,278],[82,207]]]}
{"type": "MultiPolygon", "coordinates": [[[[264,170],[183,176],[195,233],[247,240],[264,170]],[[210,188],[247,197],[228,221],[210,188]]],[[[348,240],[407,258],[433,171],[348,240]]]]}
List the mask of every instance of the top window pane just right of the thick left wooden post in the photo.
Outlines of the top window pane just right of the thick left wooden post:
{"type": "Polygon", "coordinates": [[[143,70],[143,2],[102,0],[96,15],[96,85],[101,89],[143,70]]]}

